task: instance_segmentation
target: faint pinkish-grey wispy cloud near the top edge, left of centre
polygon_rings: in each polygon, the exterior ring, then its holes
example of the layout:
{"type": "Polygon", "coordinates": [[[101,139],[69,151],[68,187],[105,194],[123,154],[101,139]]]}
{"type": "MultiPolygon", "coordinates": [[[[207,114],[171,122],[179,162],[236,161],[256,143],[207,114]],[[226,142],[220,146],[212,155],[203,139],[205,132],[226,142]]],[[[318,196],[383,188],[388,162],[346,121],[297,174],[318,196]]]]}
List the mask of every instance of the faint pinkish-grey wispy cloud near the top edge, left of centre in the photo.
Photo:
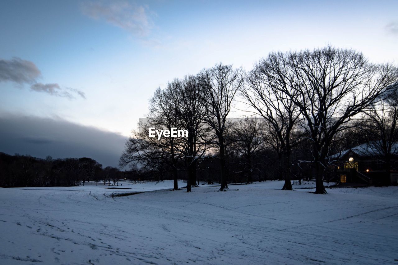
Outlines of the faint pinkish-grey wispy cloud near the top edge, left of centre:
{"type": "Polygon", "coordinates": [[[105,20],[139,37],[148,35],[152,28],[152,20],[148,17],[146,8],[126,1],[84,2],[81,10],[88,17],[105,20]]]}

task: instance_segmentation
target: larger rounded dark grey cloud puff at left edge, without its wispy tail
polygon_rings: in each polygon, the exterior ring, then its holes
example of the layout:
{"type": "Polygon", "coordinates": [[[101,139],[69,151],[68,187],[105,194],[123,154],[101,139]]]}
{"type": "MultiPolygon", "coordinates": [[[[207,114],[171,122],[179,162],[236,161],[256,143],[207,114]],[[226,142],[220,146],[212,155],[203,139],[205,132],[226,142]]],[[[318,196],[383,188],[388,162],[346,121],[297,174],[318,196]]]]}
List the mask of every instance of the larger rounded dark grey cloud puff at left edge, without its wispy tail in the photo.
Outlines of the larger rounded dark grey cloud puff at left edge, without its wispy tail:
{"type": "Polygon", "coordinates": [[[33,62],[18,57],[11,60],[0,59],[0,82],[34,83],[40,76],[41,72],[33,62]]]}

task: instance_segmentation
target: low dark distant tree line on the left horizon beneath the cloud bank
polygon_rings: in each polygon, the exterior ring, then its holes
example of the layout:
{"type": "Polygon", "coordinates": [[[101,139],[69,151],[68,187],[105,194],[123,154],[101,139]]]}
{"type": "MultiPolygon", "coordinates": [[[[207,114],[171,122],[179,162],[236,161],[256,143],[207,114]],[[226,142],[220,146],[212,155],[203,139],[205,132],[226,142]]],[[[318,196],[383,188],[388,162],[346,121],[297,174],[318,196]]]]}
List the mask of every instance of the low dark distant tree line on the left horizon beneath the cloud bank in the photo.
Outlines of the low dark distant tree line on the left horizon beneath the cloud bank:
{"type": "Polygon", "coordinates": [[[138,180],[138,172],[121,172],[88,157],[39,159],[27,155],[0,152],[0,187],[79,186],[86,182],[115,185],[119,179],[138,180]]]}

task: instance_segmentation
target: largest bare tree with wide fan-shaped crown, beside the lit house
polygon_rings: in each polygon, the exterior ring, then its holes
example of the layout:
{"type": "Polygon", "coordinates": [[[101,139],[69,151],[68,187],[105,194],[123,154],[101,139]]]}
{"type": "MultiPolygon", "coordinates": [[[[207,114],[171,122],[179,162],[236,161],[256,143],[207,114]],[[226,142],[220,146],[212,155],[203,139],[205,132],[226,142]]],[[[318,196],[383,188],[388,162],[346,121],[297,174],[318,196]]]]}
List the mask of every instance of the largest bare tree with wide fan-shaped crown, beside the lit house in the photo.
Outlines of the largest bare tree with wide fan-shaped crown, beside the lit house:
{"type": "Polygon", "coordinates": [[[292,84],[293,89],[281,91],[298,106],[302,127],[312,141],[315,193],[326,193],[323,176],[334,135],[396,83],[397,70],[390,64],[371,64],[355,50],[331,46],[271,53],[267,60],[292,84]]]}

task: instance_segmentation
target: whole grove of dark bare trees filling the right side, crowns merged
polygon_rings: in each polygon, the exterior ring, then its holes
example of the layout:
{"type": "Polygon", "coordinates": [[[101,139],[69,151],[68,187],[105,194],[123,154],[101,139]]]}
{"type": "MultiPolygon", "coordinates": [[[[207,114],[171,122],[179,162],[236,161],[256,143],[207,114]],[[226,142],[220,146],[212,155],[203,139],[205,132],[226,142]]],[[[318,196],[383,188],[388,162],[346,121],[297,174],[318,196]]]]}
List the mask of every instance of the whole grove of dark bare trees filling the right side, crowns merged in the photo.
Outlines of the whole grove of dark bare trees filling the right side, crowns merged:
{"type": "MultiPolygon", "coordinates": [[[[390,172],[398,141],[398,70],[361,52],[326,46],[272,52],[250,72],[216,64],[156,89],[150,114],[126,142],[119,166],[152,179],[228,183],[314,178],[326,193],[332,155],[373,143],[390,172]],[[243,102],[248,117],[231,119],[243,102]],[[148,137],[148,128],[188,130],[188,137],[148,137]]],[[[396,154],[398,155],[398,154],[396,154]]]]}

